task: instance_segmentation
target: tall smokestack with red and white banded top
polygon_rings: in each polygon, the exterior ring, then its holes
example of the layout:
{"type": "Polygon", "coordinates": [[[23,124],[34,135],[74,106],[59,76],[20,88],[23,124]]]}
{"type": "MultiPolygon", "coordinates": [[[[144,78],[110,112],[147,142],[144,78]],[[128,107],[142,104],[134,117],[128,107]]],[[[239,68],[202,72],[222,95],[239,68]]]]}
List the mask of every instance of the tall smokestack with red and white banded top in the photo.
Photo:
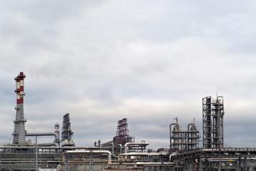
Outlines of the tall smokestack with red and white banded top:
{"type": "Polygon", "coordinates": [[[16,119],[14,120],[14,145],[25,145],[26,144],[26,130],[24,118],[24,78],[26,78],[23,72],[20,72],[14,80],[16,81],[15,93],[17,95],[16,119]]]}

